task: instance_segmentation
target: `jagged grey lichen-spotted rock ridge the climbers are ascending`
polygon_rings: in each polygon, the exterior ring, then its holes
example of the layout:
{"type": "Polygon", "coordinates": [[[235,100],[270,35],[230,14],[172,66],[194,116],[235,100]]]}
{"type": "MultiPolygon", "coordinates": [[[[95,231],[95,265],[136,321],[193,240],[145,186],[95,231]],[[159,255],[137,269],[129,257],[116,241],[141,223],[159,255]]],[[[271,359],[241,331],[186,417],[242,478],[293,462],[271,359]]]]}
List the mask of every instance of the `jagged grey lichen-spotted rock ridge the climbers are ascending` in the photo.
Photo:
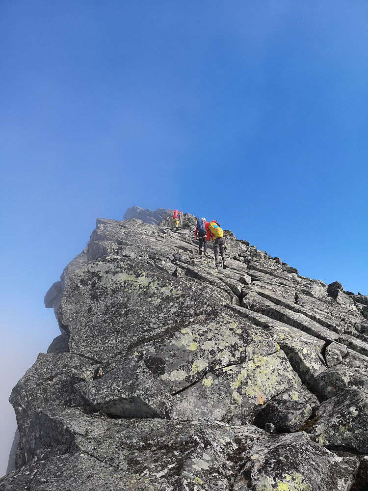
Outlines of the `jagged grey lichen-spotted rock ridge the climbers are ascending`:
{"type": "Polygon", "coordinates": [[[368,296],[170,217],[99,218],[46,294],[0,490],[367,490],[368,296]]]}

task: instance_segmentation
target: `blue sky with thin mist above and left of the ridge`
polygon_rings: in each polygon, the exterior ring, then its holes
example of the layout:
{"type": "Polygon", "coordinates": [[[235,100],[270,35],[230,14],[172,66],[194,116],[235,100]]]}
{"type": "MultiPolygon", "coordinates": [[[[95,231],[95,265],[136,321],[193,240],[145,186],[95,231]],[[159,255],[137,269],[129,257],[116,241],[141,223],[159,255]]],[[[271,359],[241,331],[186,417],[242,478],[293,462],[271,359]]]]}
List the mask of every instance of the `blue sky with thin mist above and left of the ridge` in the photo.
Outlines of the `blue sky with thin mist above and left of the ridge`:
{"type": "Polygon", "coordinates": [[[215,218],[368,294],[366,0],[3,1],[0,69],[0,464],[97,217],[215,218]]]}

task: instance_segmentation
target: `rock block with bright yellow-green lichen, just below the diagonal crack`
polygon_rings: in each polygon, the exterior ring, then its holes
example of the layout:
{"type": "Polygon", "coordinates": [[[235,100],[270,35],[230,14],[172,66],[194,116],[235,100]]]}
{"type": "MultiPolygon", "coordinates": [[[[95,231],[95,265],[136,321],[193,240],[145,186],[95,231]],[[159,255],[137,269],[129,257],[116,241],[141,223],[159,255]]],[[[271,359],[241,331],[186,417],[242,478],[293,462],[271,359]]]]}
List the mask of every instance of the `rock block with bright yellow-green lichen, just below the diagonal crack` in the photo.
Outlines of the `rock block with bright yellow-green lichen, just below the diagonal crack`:
{"type": "Polygon", "coordinates": [[[292,392],[310,405],[316,398],[301,383],[282,351],[257,356],[240,365],[220,368],[176,395],[175,418],[253,423],[263,405],[276,395],[292,392]]]}

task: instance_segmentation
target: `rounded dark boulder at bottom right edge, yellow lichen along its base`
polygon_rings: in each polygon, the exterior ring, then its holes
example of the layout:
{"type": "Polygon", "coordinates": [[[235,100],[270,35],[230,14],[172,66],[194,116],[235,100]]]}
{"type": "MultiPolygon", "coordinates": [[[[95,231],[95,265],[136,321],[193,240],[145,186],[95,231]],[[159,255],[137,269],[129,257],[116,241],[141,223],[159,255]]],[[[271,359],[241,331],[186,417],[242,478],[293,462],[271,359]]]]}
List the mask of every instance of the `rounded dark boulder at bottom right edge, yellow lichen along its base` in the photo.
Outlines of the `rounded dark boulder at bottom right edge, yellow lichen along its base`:
{"type": "Polygon", "coordinates": [[[261,437],[242,456],[237,491],[349,491],[359,466],[356,457],[338,457],[304,432],[261,437]]]}

